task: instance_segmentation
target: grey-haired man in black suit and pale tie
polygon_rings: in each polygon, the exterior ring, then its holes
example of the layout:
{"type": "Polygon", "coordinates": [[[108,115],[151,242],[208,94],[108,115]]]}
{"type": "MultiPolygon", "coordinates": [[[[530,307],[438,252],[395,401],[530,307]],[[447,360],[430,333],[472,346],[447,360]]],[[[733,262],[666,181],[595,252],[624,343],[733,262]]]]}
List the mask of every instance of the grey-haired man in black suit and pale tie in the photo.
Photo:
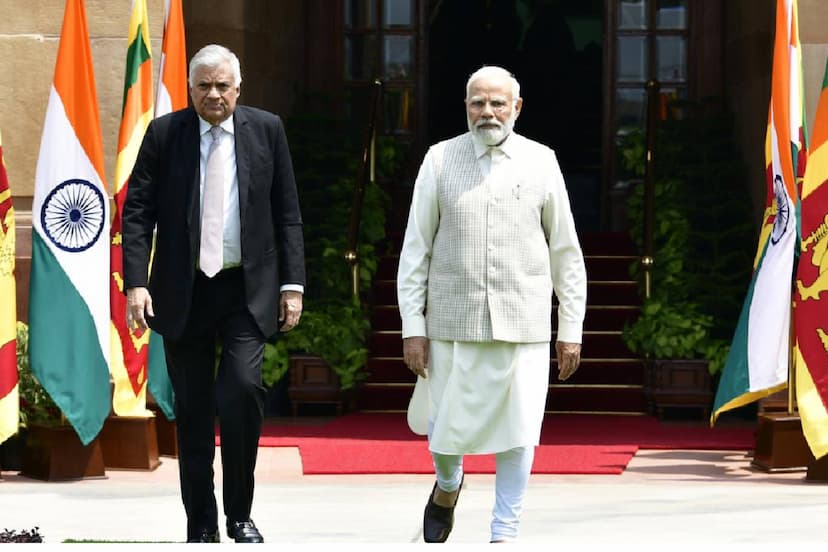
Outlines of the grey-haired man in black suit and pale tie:
{"type": "Polygon", "coordinates": [[[188,542],[219,541],[216,412],[228,536],[263,542],[250,511],[264,345],[302,313],[302,217],[284,127],[237,106],[240,84],[227,48],[193,56],[192,107],[149,125],[123,207],[127,323],[164,337],[188,542]]]}

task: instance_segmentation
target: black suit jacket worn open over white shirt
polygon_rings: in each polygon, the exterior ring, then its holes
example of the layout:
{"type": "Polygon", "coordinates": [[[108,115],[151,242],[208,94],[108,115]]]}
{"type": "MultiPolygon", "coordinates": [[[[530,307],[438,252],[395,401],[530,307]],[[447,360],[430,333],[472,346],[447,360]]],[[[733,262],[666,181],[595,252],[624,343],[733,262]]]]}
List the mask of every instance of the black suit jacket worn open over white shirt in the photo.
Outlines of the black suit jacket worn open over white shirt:
{"type": "MultiPolygon", "coordinates": [[[[237,106],[233,121],[247,306],[269,336],[278,329],[280,286],[305,285],[302,216],[281,119],[237,106]]],[[[155,316],[147,321],[170,339],[184,331],[198,264],[199,155],[194,109],[153,120],[122,211],[124,289],[149,288],[155,316]]]]}

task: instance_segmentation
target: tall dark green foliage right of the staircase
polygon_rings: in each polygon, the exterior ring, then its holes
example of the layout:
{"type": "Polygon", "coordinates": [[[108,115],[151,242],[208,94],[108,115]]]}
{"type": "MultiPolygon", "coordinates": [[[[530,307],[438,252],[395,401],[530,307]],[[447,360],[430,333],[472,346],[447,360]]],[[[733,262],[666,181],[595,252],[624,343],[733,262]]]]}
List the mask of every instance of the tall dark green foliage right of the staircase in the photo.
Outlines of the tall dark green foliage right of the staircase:
{"type": "MultiPolygon", "coordinates": [[[[715,101],[682,106],[661,121],[655,154],[652,296],[624,328],[634,352],[704,358],[724,366],[752,270],[754,230],[731,117],[715,101]]],[[[644,136],[621,148],[625,168],[644,174],[644,136]]],[[[644,185],[628,200],[633,241],[643,248],[644,185]]],[[[630,272],[643,282],[636,262],[630,272]]]]}

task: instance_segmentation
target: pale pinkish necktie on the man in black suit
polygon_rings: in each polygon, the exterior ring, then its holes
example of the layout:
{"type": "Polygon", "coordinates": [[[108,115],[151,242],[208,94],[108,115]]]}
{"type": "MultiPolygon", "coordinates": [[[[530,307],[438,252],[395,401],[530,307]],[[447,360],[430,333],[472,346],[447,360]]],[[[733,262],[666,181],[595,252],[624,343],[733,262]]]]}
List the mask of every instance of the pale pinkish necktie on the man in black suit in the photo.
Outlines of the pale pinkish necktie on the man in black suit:
{"type": "Polygon", "coordinates": [[[199,266],[212,278],[224,264],[224,163],[221,159],[221,127],[210,129],[213,141],[207,154],[204,175],[204,201],[201,207],[201,244],[199,266]]]}

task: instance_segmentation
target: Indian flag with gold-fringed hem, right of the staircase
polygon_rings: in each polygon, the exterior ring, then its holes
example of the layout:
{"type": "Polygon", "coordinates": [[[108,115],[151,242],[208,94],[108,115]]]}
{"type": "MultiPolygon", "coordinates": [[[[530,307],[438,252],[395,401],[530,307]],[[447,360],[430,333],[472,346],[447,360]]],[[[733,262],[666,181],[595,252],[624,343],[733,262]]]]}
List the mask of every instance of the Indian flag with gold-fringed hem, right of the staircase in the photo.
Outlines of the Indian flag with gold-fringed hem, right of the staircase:
{"type": "Polygon", "coordinates": [[[796,0],[777,0],[771,101],[765,139],[767,201],[753,278],[719,380],[719,414],[788,385],[794,258],[799,245],[796,177],[805,150],[796,0]]]}

